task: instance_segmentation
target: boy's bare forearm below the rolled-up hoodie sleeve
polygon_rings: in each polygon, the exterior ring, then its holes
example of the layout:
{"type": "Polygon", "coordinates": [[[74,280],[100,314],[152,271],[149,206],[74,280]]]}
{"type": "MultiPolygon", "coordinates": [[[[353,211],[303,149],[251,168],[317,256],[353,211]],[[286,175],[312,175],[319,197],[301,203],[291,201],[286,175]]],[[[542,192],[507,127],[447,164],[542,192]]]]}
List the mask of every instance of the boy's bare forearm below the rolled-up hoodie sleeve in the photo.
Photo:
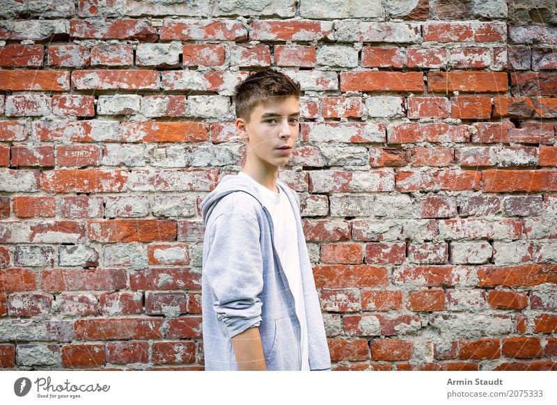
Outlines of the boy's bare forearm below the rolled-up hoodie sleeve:
{"type": "Polygon", "coordinates": [[[265,371],[265,355],[259,328],[248,328],[232,338],[238,369],[242,371],[265,371]]]}

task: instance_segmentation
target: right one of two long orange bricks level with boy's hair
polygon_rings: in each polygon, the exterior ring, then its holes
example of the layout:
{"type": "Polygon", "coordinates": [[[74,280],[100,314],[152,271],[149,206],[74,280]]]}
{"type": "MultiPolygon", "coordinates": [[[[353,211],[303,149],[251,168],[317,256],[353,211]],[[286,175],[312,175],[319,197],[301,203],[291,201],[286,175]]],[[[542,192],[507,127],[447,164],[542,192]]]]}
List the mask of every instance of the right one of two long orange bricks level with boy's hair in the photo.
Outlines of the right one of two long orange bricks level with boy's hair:
{"type": "Polygon", "coordinates": [[[508,90],[505,72],[429,72],[427,87],[442,93],[505,93],[508,90]]]}

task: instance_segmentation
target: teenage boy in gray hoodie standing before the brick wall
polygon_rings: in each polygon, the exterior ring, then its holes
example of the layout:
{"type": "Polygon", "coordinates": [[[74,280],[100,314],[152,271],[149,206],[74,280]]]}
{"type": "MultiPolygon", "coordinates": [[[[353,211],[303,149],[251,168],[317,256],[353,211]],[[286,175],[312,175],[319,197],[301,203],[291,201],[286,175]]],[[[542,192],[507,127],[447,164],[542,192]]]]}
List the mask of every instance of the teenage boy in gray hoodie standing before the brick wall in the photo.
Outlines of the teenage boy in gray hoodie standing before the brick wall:
{"type": "Polygon", "coordinates": [[[201,202],[205,370],[330,370],[297,194],[278,179],[299,134],[300,85],[267,69],[235,87],[237,175],[201,202]]]}

